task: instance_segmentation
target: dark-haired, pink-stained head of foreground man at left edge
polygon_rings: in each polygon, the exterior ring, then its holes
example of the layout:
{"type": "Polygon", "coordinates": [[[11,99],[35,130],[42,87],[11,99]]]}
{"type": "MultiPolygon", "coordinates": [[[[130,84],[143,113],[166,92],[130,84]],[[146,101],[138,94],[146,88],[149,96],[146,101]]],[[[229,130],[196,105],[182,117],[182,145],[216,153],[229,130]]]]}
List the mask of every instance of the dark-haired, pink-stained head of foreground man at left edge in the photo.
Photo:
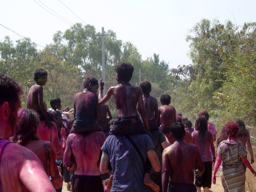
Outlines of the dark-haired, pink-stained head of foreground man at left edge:
{"type": "Polygon", "coordinates": [[[17,111],[20,108],[20,96],[22,90],[11,77],[0,73],[0,120],[3,129],[2,137],[8,138],[13,135],[17,123],[17,111]],[[4,120],[7,121],[4,121],[4,120]]]}

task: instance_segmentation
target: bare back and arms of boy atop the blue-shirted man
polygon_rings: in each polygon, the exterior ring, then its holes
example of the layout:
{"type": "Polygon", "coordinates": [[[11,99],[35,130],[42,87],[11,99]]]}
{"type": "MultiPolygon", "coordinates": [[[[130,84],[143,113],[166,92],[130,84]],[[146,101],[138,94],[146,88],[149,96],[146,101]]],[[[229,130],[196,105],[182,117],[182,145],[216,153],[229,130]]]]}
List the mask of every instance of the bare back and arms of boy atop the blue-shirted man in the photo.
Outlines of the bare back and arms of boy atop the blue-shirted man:
{"type": "Polygon", "coordinates": [[[136,108],[138,103],[138,111],[140,113],[144,126],[148,131],[148,134],[150,135],[148,128],[148,115],[144,108],[141,87],[122,81],[118,74],[116,74],[116,80],[119,84],[110,87],[106,95],[103,97],[103,82],[102,78],[100,79],[99,105],[104,105],[113,95],[116,101],[117,115],[135,116],[138,114],[136,108]]]}

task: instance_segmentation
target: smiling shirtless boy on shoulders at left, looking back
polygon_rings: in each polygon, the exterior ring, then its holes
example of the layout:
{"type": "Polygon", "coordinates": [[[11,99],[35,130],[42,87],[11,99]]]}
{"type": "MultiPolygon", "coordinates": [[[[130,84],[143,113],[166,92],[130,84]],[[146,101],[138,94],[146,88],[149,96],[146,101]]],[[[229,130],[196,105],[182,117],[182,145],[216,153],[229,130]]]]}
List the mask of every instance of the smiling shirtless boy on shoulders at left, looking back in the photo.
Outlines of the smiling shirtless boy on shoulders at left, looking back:
{"type": "Polygon", "coordinates": [[[43,100],[43,86],[47,82],[47,76],[47,72],[42,68],[35,71],[34,80],[36,84],[32,85],[29,89],[27,96],[27,108],[35,110],[39,114],[40,120],[45,120],[45,126],[48,126],[48,129],[50,129],[52,124],[44,107],[43,100]]]}

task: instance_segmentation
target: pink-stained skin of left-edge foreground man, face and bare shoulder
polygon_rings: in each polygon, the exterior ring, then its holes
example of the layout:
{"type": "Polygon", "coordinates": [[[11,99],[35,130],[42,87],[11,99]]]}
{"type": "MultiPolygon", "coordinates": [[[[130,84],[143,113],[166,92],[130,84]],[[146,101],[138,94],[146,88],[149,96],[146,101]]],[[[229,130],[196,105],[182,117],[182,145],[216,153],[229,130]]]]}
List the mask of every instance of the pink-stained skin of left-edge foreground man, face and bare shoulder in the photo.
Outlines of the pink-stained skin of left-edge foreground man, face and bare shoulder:
{"type": "MultiPolygon", "coordinates": [[[[19,108],[20,98],[13,111],[7,101],[0,106],[0,138],[13,135],[19,108]],[[14,117],[12,121],[9,121],[10,117],[14,117]]],[[[40,160],[25,147],[14,143],[6,145],[0,167],[2,168],[0,178],[3,192],[20,192],[23,188],[32,192],[55,192],[40,160]],[[40,182],[38,182],[38,178],[40,178],[40,182]]]]}

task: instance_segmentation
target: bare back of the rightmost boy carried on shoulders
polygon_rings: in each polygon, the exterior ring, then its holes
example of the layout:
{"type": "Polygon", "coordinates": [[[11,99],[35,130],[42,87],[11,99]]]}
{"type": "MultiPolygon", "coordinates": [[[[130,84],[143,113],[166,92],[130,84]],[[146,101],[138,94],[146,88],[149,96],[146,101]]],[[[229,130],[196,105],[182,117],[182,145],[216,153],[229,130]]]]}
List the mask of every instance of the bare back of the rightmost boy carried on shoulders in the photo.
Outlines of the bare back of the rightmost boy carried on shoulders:
{"type": "Polygon", "coordinates": [[[158,116],[161,114],[160,125],[170,127],[176,122],[176,110],[171,105],[162,105],[158,108],[158,112],[158,116]]]}

